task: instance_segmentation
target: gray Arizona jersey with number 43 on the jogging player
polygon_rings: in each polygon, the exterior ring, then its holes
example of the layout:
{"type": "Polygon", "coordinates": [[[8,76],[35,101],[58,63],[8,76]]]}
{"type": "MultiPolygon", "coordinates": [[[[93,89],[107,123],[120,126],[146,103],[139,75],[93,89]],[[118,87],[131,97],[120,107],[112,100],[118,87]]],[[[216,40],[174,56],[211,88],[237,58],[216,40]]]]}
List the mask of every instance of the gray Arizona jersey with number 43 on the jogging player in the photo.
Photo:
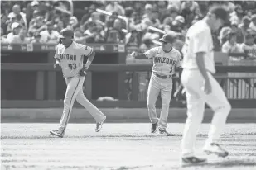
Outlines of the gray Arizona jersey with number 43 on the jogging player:
{"type": "Polygon", "coordinates": [[[55,58],[60,59],[60,66],[64,78],[77,75],[83,68],[84,56],[89,56],[93,49],[86,45],[73,42],[68,48],[59,44],[56,47],[55,58]]]}

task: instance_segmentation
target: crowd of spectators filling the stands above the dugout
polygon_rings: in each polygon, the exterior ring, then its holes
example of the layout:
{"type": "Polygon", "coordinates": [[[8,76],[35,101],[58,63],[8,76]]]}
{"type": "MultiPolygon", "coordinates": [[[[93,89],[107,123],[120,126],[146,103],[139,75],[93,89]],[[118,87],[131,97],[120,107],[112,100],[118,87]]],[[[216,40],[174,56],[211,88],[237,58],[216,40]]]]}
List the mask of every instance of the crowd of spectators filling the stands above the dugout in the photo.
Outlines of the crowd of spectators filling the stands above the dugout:
{"type": "Polygon", "coordinates": [[[1,42],[57,43],[60,30],[69,27],[75,32],[75,41],[80,43],[125,43],[148,50],[163,35],[149,29],[152,26],[175,35],[176,48],[181,50],[189,26],[205,17],[213,3],[225,6],[230,12],[229,23],[213,32],[215,50],[256,49],[254,1],[74,1],[73,16],[69,14],[72,10],[69,1],[3,1],[1,42]]]}

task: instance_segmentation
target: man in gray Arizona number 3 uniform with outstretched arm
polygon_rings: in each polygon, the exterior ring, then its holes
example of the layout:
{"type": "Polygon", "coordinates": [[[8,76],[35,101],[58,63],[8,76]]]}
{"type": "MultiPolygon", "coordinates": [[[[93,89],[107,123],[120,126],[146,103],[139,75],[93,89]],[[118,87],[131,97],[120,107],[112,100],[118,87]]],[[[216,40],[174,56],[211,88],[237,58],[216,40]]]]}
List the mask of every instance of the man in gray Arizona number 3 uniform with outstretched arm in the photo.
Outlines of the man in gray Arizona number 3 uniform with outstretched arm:
{"type": "Polygon", "coordinates": [[[173,48],[175,39],[172,35],[163,35],[160,40],[162,46],[154,47],[141,54],[133,52],[131,56],[135,59],[153,59],[152,76],[147,89],[148,116],[152,122],[151,132],[155,133],[159,129],[159,134],[169,136],[171,134],[166,129],[171,101],[172,75],[175,73],[175,68],[181,68],[181,53],[173,48]],[[160,119],[156,112],[159,92],[162,98],[160,119]]]}

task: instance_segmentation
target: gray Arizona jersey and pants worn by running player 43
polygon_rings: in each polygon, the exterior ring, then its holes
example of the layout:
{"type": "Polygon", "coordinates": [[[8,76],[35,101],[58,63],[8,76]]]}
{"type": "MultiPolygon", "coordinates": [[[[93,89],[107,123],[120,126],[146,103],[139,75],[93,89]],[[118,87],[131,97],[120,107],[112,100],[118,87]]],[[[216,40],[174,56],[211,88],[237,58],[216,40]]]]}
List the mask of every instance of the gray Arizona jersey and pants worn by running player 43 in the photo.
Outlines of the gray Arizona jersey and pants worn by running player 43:
{"type": "Polygon", "coordinates": [[[73,42],[68,48],[62,44],[56,47],[55,58],[60,60],[63,77],[67,84],[64,110],[60,120],[60,128],[63,129],[64,133],[75,99],[94,116],[97,123],[105,119],[104,114],[85,97],[82,88],[85,76],[80,76],[80,70],[83,68],[84,56],[89,56],[92,52],[91,47],[76,42],[73,42]]]}

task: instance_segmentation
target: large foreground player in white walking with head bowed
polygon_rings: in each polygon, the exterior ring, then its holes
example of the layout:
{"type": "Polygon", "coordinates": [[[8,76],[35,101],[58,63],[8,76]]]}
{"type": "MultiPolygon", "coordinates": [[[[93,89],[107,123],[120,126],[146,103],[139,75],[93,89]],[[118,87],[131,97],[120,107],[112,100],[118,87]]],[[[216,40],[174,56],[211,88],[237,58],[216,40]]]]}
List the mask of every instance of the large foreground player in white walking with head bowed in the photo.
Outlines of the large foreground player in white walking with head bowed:
{"type": "Polygon", "coordinates": [[[181,165],[205,163],[205,158],[194,155],[196,132],[204,116],[205,103],[215,111],[204,151],[226,157],[229,153],[220,147],[221,130],[225,126],[231,106],[220,84],[212,76],[215,73],[213,40],[211,31],[217,31],[228,19],[223,7],[212,7],[206,17],[192,25],[186,33],[182,48],[183,72],[181,83],[186,90],[187,118],[181,140],[181,165]]]}

